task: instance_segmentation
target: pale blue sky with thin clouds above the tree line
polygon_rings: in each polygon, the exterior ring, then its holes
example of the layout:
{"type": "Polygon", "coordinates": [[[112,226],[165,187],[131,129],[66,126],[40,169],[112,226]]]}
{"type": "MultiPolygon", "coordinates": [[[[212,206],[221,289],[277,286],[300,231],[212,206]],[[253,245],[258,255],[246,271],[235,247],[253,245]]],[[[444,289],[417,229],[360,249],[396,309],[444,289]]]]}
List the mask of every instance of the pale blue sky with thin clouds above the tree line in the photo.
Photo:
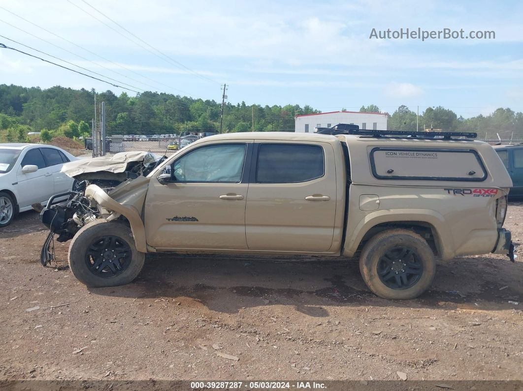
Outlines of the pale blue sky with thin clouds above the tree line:
{"type": "MultiPolygon", "coordinates": [[[[4,9],[0,19],[25,32],[0,21],[0,34],[142,90],[202,99],[220,100],[225,82],[232,103],[309,104],[322,111],[377,104],[391,113],[400,104],[414,111],[419,105],[420,112],[442,105],[464,117],[501,106],[523,111],[523,2],[86,2],[170,60],[82,0],[0,0],[0,6],[87,51],[4,9]],[[496,38],[369,39],[372,28],[418,27],[488,30],[496,38]]],[[[0,83],[121,91],[5,49],[0,83]]]]}

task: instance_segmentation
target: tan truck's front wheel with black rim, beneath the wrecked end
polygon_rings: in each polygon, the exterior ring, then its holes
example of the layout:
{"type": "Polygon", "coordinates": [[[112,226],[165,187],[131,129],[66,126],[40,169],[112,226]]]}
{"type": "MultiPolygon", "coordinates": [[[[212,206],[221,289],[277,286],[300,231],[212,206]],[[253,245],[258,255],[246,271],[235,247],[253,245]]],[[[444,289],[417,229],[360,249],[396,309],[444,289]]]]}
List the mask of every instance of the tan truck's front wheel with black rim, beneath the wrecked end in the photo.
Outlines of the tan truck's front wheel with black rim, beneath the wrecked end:
{"type": "Polygon", "coordinates": [[[97,220],[85,224],[69,246],[73,275],[89,287],[115,287],[134,280],[145,254],[134,244],[131,229],[121,222],[97,220]]]}

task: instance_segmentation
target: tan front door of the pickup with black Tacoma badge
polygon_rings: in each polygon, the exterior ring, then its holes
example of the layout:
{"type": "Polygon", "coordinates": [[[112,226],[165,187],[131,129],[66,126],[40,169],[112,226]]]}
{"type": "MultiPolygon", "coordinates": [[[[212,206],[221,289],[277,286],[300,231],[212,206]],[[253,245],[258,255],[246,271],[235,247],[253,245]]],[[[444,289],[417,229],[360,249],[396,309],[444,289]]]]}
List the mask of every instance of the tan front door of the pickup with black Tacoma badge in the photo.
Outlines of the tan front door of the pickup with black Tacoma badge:
{"type": "Polygon", "coordinates": [[[244,171],[251,146],[252,141],[195,146],[166,167],[171,183],[151,178],[145,199],[147,244],[245,250],[244,171]]]}

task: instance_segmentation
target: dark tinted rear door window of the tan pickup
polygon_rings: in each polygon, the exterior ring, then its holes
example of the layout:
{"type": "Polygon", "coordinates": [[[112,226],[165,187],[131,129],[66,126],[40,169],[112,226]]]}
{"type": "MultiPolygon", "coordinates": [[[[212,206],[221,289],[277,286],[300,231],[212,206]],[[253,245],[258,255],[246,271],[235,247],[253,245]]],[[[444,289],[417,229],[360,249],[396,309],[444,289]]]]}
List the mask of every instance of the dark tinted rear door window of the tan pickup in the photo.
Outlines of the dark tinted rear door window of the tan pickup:
{"type": "Polygon", "coordinates": [[[258,183],[306,182],[323,176],[323,148],[316,145],[261,144],[256,167],[258,183]]]}

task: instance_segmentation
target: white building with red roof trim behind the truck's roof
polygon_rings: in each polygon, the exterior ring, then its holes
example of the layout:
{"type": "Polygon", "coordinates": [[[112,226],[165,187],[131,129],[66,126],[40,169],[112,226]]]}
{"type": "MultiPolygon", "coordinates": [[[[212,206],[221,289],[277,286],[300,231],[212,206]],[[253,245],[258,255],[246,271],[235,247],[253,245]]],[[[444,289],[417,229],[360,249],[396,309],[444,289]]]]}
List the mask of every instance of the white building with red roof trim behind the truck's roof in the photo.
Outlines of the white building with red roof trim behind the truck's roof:
{"type": "Polygon", "coordinates": [[[294,132],[314,133],[316,127],[331,127],[337,124],[354,124],[360,129],[386,130],[387,115],[360,113],[358,111],[331,111],[319,114],[303,114],[294,117],[294,132]]]}

